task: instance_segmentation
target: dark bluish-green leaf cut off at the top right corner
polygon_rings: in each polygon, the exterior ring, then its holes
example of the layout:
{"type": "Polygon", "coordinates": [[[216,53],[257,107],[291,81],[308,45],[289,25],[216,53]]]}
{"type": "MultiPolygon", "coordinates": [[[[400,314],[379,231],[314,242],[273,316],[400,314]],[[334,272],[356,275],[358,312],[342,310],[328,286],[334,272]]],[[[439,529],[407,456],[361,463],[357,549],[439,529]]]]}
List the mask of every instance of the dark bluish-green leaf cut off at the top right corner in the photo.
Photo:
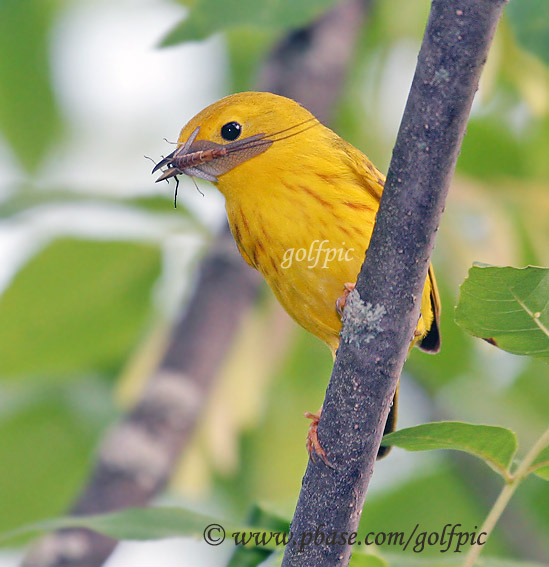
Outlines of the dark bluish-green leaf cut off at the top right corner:
{"type": "Polygon", "coordinates": [[[528,51],[549,64],[549,3],[520,0],[506,8],[507,21],[517,40],[528,51]]]}

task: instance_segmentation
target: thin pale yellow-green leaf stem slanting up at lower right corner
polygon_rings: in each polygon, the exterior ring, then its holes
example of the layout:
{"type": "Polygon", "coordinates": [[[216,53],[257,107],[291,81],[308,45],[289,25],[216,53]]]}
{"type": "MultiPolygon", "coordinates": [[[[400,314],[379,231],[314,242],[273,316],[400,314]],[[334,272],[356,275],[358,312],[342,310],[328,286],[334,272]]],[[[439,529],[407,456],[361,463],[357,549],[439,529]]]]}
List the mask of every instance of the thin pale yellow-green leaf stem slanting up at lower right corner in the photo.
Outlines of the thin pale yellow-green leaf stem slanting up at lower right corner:
{"type": "MultiPolygon", "coordinates": [[[[549,445],[549,429],[547,429],[543,435],[534,443],[533,447],[528,451],[524,459],[521,461],[517,470],[509,476],[509,480],[506,482],[503,490],[500,492],[499,496],[497,497],[490,513],[484,520],[482,527],[479,533],[485,532],[486,540],[490,537],[495,525],[497,524],[498,520],[500,519],[503,511],[507,507],[509,500],[515,493],[515,490],[518,488],[519,484],[530,474],[528,470],[532,463],[534,462],[535,458],[539,455],[539,453],[545,449],[549,445]]],[[[463,567],[474,567],[481,551],[483,545],[479,545],[478,543],[473,545],[465,557],[465,562],[463,563],[463,567]]]]}

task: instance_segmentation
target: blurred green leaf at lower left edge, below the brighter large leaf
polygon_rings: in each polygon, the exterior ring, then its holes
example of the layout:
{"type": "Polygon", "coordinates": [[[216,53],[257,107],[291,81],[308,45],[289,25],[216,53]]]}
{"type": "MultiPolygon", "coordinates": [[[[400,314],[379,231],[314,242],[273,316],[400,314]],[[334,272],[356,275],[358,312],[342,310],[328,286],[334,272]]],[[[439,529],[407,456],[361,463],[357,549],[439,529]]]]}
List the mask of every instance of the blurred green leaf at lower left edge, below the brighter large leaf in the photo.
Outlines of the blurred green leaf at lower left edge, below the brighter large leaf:
{"type": "Polygon", "coordinates": [[[115,416],[97,379],[21,390],[3,387],[0,396],[0,532],[66,510],[115,416]]]}

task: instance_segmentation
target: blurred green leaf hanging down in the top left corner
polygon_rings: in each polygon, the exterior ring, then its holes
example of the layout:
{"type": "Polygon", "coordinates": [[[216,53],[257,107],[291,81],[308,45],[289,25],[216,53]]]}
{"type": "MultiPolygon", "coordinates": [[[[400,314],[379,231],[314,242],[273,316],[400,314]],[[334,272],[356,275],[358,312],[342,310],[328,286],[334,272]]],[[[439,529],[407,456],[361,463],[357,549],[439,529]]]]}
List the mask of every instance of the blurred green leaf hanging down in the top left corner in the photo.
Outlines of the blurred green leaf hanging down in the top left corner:
{"type": "Polygon", "coordinates": [[[0,2],[0,129],[22,166],[36,169],[60,129],[49,35],[59,2],[0,2]]]}

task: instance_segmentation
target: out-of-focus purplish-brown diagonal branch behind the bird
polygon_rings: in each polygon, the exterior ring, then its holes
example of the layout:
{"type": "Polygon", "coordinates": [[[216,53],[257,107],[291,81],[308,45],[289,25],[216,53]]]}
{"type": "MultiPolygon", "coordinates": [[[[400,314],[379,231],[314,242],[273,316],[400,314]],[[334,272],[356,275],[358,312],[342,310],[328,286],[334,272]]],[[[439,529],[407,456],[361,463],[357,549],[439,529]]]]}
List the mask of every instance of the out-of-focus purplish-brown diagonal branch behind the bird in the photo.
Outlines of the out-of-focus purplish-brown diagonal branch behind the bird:
{"type": "MultiPolygon", "coordinates": [[[[328,119],[369,4],[349,0],[290,33],[268,58],[259,90],[292,97],[328,119]]],[[[202,262],[196,290],[141,400],[102,441],[73,514],[146,505],[165,487],[259,285],[226,228],[202,262]]],[[[98,567],[115,545],[88,530],[63,530],[44,537],[23,565],[98,567]]]]}

